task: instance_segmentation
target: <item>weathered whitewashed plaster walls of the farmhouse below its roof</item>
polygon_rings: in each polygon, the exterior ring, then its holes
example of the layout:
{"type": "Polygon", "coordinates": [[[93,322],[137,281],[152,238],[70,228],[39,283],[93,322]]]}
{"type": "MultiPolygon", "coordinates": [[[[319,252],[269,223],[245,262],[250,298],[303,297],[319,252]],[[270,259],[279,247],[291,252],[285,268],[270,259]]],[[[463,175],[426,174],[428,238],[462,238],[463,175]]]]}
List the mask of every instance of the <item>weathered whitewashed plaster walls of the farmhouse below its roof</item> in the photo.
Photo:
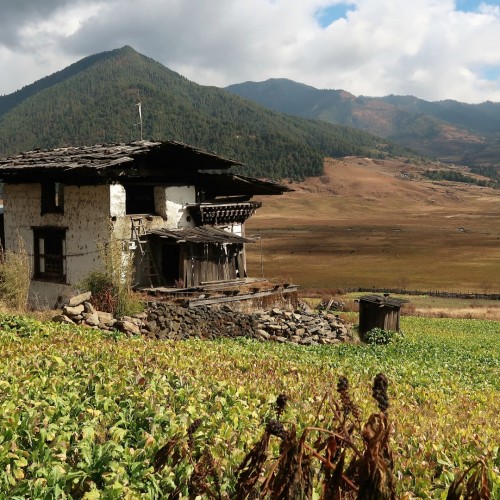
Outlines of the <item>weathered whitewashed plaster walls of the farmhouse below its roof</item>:
{"type": "MultiPolygon", "coordinates": [[[[158,186],[154,189],[156,216],[143,221],[147,229],[192,227],[186,209],[196,202],[195,186],[158,186]]],[[[6,249],[16,250],[17,231],[22,237],[33,265],[33,227],[66,229],[66,284],[33,280],[32,298],[53,306],[59,296],[75,293],[75,288],[89,272],[100,269],[99,242],[113,237],[124,240],[124,258],[132,239],[130,216],[126,215],[126,193],[120,184],[64,187],[64,213],[41,215],[40,184],[4,185],[4,220],[6,249]]],[[[243,235],[243,225],[235,224],[232,232],[243,235]]],[[[136,258],[140,257],[137,254],[136,258]]],[[[137,278],[141,281],[140,269],[137,278]]]]}

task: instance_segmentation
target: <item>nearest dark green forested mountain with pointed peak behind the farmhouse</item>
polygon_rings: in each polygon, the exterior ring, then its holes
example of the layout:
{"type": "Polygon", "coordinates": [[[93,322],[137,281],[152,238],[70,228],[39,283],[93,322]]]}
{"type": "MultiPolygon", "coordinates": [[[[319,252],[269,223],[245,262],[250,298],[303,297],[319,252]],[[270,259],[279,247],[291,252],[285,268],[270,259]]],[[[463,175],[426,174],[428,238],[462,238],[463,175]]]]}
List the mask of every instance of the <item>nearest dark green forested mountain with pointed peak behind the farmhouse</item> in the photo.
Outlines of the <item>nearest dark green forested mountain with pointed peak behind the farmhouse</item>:
{"type": "Polygon", "coordinates": [[[178,140],[238,159],[250,175],[301,179],[325,156],[403,149],[360,130],[268,110],[190,82],[131,47],[97,54],[0,97],[0,155],[33,148],[178,140]]]}

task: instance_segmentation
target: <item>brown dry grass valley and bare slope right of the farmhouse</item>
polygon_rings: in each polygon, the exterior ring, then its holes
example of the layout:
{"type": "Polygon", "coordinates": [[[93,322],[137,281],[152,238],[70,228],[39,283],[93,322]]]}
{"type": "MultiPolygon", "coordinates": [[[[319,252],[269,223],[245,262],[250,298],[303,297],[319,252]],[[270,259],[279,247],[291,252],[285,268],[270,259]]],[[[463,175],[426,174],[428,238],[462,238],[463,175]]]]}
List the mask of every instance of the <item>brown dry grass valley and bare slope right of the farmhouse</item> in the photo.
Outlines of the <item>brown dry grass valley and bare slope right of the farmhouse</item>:
{"type": "Polygon", "coordinates": [[[309,289],[500,292],[500,192],[422,178],[428,165],[327,160],[324,175],[263,198],[249,273],[309,289]]]}

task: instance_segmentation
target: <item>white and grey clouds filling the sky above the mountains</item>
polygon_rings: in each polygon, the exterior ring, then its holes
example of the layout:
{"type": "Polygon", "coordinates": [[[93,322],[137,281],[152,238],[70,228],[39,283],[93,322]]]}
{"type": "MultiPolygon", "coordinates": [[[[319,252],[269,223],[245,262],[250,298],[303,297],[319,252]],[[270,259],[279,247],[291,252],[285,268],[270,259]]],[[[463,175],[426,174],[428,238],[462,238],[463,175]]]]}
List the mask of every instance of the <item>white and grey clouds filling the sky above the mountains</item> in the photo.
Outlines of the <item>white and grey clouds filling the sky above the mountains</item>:
{"type": "Polygon", "coordinates": [[[356,95],[500,101],[492,2],[464,12],[453,0],[16,0],[0,18],[0,94],[131,45],[206,85],[286,77],[356,95]],[[325,27],[321,12],[343,17],[325,27]]]}

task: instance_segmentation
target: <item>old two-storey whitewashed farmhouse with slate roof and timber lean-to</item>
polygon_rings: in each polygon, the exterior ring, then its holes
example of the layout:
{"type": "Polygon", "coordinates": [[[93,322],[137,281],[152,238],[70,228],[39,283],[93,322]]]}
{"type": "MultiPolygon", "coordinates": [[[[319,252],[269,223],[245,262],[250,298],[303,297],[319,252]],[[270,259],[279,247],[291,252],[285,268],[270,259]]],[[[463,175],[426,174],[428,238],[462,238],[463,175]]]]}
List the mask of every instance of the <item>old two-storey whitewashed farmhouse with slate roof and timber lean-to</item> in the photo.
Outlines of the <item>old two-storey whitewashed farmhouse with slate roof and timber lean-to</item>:
{"type": "Polygon", "coordinates": [[[138,287],[192,287],[246,276],[254,195],[285,186],[230,172],[238,162],[179,142],[36,150],[0,160],[4,245],[33,257],[32,294],[54,303],[122,242],[138,287]]]}

